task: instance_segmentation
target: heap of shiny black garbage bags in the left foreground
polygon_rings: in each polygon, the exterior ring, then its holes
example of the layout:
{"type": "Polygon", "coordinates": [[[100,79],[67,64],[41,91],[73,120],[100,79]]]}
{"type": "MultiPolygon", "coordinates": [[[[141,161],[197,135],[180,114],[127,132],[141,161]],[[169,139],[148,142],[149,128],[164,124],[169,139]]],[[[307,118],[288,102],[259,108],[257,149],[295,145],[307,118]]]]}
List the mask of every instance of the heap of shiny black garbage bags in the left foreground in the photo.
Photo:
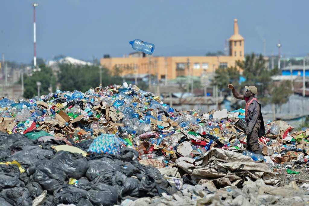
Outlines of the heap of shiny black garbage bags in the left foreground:
{"type": "MultiPolygon", "coordinates": [[[[73,146],[87,150],[91,140],[73,146]]],[[[122,148],[120,155],[87,157],[52,146],[63,141],[39,143],[20,134],[0,133],[0,205],[32,205],[47,191],[40,205],[114,205],[127,198],[153,197],[177,191],[160,172],[138,162],[138,152],[122,148]],[[18,162],[25,172],[20,171],[18,162]],[[75,179],[74,183],[70,183],[75,179]]]]}

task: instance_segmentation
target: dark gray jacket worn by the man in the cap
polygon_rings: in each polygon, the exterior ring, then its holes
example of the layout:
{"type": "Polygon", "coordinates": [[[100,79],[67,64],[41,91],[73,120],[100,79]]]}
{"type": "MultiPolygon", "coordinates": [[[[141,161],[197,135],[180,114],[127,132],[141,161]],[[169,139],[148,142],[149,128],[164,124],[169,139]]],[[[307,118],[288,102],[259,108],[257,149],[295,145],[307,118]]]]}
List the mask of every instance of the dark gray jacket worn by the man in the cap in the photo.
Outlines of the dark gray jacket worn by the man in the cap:
{"type": "Polygon", "coordinates": [[[251,104],[248,106],[248,117],[246,118],[247,123],[247,130],[252,132],[253,127],[256,125],[257,119],[260,119],[260,128],[258,137],[265,135],[265,127],[264,127],[264,120],[261,112],[261,105],[257,101],[252,101],[251,104]]]}

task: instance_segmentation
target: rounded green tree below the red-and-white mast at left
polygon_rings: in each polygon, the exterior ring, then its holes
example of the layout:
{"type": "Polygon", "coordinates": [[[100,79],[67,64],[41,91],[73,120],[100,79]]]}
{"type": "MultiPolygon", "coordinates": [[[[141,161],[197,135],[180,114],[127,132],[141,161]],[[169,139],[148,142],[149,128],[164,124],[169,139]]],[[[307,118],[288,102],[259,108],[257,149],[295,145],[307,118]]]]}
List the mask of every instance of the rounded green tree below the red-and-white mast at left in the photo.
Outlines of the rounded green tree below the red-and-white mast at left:
{"type": "MultiPolygon", "coordinates": [[[[46,67],[45,64],[39,65],[41,71],[33,72],[31,76],[24,76],[24,97],[32,98],[37,95],[36,82],[41,82],[40,93],[46,95],[49,93],[49,88],[52,91],[56,88],[56,78],[53,75],[53,71],[50,67],[46,67]]],[[[21,79],[19,79],[21,84],[21,79]]]]}

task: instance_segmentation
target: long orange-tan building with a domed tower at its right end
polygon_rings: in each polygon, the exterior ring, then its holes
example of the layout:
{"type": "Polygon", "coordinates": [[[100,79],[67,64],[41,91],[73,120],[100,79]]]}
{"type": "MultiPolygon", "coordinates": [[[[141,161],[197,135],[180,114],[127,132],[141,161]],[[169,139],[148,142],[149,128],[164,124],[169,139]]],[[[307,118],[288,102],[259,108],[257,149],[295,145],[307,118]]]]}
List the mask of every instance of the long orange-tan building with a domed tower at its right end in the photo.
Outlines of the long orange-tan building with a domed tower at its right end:
{"type": "Polygon", "coordinates": [[[121,75],[158,75],[159,79],[175,79],[178,76],[201,76],[213,73],[218,67],[235,66],[243,60],[244,39],[238,33],[237,19],[234,19],[234,34],[229,39],[229,56],[181,56],[160,57],[135,52],[125,58],[101,58],[100,64],[112,70],[118,67],[121,75]]]}

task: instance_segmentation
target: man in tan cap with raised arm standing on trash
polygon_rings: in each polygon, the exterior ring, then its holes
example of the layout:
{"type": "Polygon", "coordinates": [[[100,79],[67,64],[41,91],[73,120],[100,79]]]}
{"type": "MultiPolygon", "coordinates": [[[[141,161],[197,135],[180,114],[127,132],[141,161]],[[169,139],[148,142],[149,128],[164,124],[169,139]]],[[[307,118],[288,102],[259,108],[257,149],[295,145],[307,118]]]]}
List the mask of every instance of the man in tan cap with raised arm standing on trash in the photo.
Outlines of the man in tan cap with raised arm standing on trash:
{"type": "Polygon", "coordinates": [[[261,112],[261,104],[257,101],[255,95],[257,88],[255,86],[245,87],[247,91],[245,95],[240,95],[236,92],[232,84],[228,84],[227,87],[232,90],[233,96],[236,99],[246,101],[246,135],[247,135],[247,149],[256,154],[262,154],[259,137],[265,135],[264,120],[261,112]]]}

